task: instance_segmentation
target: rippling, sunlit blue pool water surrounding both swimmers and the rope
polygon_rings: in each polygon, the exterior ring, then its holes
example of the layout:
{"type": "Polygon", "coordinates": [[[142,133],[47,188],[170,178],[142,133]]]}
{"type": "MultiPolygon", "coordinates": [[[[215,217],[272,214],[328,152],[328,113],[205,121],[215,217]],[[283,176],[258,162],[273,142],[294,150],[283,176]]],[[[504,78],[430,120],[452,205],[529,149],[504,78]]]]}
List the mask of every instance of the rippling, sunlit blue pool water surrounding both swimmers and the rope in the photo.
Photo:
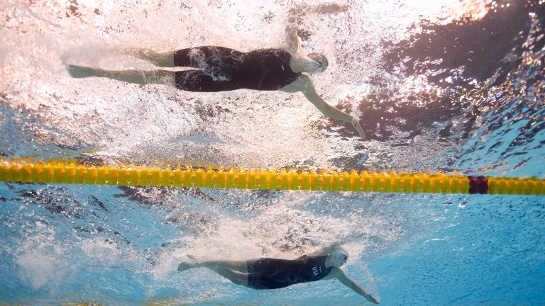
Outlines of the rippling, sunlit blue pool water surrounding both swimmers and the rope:
{"type": "MultiPolygon", "coordinates": [[[[539,1],[3,6],[1,157],[545,179],[539,1]],[[316,90],[358,114],[368,140],[303,96],[65,72],[67,61],[153,69],[112,55],[127,46],[282,45],[286,24],[329,55],[316,90]]],[[[346,273],[382,305],[545,305],[539,196],[1,183],[0,222],[0,304],[368,303],[333,280],[251,290],[176,271],[191,256],[294,258],[342,242],[346,273]]]]}

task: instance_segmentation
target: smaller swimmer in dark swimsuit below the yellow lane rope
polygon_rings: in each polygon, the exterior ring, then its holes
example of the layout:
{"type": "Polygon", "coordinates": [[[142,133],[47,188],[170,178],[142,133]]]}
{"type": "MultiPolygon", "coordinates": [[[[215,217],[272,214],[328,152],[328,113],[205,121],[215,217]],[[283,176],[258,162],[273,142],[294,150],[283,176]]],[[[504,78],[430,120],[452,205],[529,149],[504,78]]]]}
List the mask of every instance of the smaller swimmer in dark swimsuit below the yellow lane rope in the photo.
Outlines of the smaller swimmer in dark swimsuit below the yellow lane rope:
{"type": "Polygon", "coordinates": [[[249,261],[182,262],[178,266],[178,271],[200,267],[209,268],[236,285],[253,289],[277,289],[296,283],[336,278],[370,302],[378,304],[375,297],[354,283],[338,268],[348,260],[346,251],[334,246],[334,248],[324,249],[317,255],[304,255],[294,260],[261,258],[249,261]]]}

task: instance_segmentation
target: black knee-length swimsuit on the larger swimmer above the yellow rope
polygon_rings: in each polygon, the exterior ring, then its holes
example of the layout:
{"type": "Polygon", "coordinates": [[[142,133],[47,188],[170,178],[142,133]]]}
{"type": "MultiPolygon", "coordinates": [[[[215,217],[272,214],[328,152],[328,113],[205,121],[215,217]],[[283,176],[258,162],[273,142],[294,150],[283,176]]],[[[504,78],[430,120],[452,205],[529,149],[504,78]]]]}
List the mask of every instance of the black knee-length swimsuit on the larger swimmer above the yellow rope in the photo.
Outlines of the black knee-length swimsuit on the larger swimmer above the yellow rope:
{"type": "Polygon", "coordinates": [[[299,73],[290,68],[290,53],[280,49],[239,52],[226,47],[192,47],[174,52],[176,88],[185,91],[272,91],[291,84],[299,73]]]}

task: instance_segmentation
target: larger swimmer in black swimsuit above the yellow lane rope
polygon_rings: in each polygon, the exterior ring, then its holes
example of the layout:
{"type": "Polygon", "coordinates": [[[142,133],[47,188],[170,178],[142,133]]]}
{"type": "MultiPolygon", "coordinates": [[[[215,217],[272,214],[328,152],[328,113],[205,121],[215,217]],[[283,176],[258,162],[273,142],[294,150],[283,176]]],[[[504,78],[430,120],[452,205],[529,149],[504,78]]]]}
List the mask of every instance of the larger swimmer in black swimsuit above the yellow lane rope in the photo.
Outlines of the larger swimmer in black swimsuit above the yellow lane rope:
{"type": "Polygon", "coordinates": [[[185,91],[301,91],[307,99],[329,118],[350,123],[365,139],[360,121],[353,115],[329,105],[322,99],[307,73],[324,72],[328,61],[319,53],[304,54],[297,32],[290,32],[288,50],[260,49],[239,52],[226,47],[190,47],[174,52],[158,53],[133,49],[126,53],[147,60],[158,67],[187,67],[181,71],[123,70],[112,71],[68,65],[72,77],[106,77],[133,84],[164,84],[185,91]]]}

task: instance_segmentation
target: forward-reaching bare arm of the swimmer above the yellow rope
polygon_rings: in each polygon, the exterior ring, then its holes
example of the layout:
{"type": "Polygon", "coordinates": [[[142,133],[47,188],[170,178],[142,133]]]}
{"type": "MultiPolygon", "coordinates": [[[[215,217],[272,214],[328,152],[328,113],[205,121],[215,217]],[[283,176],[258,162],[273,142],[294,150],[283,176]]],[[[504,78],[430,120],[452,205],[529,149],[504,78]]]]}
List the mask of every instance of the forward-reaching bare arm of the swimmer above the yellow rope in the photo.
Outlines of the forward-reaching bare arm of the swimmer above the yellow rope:
{"type": "Polygon", "coordinates": [[[302,91],[310,103],[314,104],[314,106],[316,106],[321,113],[329,118],[350,123],[358,131],[360,137],[365,139],[365,132],[363,132],[363,128],[361,128],[360,120],[358,120],[358,118],[355,116],[345,113],[340,109],[326,103],[321,96],[316,94],[316,89],[314,89],[312,81],[310,81],[309,77],[305,76],[304,74],[299,76],[299,78],[297,78],[297,80],[295,80],[292,84],[284,86],[280,90],[290,93],[302,91]]]}

